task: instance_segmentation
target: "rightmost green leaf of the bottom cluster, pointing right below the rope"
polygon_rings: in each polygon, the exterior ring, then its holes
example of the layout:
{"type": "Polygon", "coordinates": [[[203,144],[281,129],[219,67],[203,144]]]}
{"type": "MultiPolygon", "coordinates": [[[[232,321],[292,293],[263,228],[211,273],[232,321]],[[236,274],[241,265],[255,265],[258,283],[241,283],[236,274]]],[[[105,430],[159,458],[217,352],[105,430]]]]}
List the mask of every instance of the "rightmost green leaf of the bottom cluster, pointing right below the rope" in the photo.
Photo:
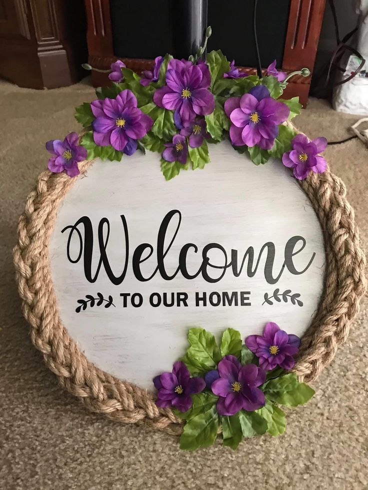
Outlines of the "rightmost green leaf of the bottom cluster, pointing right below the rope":
{"type": "Polygon", "coordinates": [[[295,373],[272,379],[264,387],[264,395],[273,402],[286,407],[297,407],[306,403],[314,395],[314,390],[300,383],[295,373]]]}

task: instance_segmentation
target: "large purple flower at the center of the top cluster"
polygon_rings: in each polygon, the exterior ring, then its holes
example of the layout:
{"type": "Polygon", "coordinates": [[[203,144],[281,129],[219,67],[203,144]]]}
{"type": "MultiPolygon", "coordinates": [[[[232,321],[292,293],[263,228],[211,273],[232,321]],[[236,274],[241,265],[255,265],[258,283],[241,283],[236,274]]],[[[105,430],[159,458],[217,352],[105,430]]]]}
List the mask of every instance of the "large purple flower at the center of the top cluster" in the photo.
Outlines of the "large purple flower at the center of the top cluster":
{"type": "Polygon", "coordinates": [[[208,66],[201,62],[171,59],[167,65],[166,85],[157,88],[153,102],[159,107],[175,110],[182,121],[191,121],[195,114],[213,112],[214,97],[208,90],[211,82],[208,66]]]}

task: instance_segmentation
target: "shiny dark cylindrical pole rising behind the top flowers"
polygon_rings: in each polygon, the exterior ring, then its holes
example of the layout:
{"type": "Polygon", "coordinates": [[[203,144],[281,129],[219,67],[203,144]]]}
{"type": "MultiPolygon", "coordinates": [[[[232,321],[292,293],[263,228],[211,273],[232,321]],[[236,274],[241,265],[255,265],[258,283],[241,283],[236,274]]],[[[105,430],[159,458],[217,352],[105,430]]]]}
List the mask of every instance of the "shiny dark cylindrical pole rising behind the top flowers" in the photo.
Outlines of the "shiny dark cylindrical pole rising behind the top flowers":
{"type": "MultiPolygon", "coordinates": [[[[173,45],[175,58],[195,55],[207,27],[207,0],[173,2],[173,45]]],[[[205,53],[204,53],[205,54],[205,53]]]]}

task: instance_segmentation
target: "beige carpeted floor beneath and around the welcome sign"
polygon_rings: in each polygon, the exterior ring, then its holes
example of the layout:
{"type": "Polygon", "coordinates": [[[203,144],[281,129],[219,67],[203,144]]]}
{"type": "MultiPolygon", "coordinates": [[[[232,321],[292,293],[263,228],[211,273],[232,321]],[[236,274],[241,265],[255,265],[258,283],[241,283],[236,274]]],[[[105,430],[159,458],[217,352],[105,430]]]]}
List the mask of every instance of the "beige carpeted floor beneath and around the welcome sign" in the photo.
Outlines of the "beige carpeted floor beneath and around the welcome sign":
{"type": "MultiPolygon", "coordinates": [[[[46,168],[44,142],[78,130],[73,107],[92,97],[88,80],[49,91],[0,82],[0,488],[368,489],[366,301],[347,343],[314,383],[315,397],[288,414],[286,433],[246,441],[237,452],[219,443],[180,452],[175,439],[91,415],[59,389],[30,343],[11,249],[25,197],[46,168]]],[[[356,119],[312,99],[295,123],[310,137],[337,140],[356,119]]],[[[366,241],[368,150],[355,139],[326,156],[366,241]]]]}

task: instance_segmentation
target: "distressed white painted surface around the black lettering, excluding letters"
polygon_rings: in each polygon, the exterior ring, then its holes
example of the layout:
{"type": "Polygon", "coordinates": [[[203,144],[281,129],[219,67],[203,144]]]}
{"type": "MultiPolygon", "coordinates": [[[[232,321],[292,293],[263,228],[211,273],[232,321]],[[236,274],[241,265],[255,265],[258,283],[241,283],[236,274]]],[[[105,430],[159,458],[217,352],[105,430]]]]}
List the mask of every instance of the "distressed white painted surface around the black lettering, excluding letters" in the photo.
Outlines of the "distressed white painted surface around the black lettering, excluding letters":
{"type": "MultiPolygon", "coordinates": [[[[232,327],[245,337],[261,333],[267,321],[274,321],[288,333],[302,335],[322,292],[325,255],[321,229],[289,170],[277,160],[257,167],[225,142],[210,145],[210,156],[211,163],[204,170],[182,171],[169,182],[160,173],[157,154],[136,152],[124,156],[120,163],[96,161],[66,195],[55,222],[50,260],[63,324],[90,361],[144,388],[150,389],[152,377],[170,370],[184,354],[189,327],[203,327],[215,335],[232,327]],[[274,267],[279,270],[286,241],[301,235],[306,246],[295,255],[295,266],[301,270],[313,252],[316,256],[304,274],[291,275],[285,270],[274,286],[264,279],[266,254],[253,278],[248,278],[245,271],[238,278],[227,271],[214,284],[201,277],[187,280],[180,274],[171,281],[163,281],[157,274],[142,283],[134,278],[130,261],[127,276],[119,286],[112,285],[102,269],[97,281],[90,284],[84,277],[82,261],[68,262],[68,233],[60,231],[81,216],[91,218],[95,233],[100,218],[109,219],[108,253],[118,275],[125,259],[120,214],[127,220],[131,259],[138,244],[148,242],[155,247],[161,220],[171,209],[181,211],[182,222],[165,259],[167,270],[176,269],[178,252],[187,242],[197,244],[199,256],[204,245],[217,242],[228,253],[231,248],[237,249],[241,260],[249,246],[254,247],[257,257],[260,247],[272,241],[276,246],[274,267]],[[300,293],[304,306],[290,302],[262,305],[264,293],[272,295],[276,287],[281,292],[291,289],[300,293]],[[111,294],[116,308],[94,307],[75,313],[77,299],[86,294],[96,296],[97,291],[104,296],[111,294]],[[148,304],[150,293],[171,291],[186,291],[189,306],[153,308],[148,304]],[[251,306],[195,307],[196,291],[251,291],[251,306]],[[143,306],[133,308],[128,303],[122,308],[121,292],[141,293],[143,306]]],[[[188,254],[189,270],[199,264],[199,257],[188,254]]],[[[154,255],[142,264],[145,271],[154,267],[154,255]]]]}

